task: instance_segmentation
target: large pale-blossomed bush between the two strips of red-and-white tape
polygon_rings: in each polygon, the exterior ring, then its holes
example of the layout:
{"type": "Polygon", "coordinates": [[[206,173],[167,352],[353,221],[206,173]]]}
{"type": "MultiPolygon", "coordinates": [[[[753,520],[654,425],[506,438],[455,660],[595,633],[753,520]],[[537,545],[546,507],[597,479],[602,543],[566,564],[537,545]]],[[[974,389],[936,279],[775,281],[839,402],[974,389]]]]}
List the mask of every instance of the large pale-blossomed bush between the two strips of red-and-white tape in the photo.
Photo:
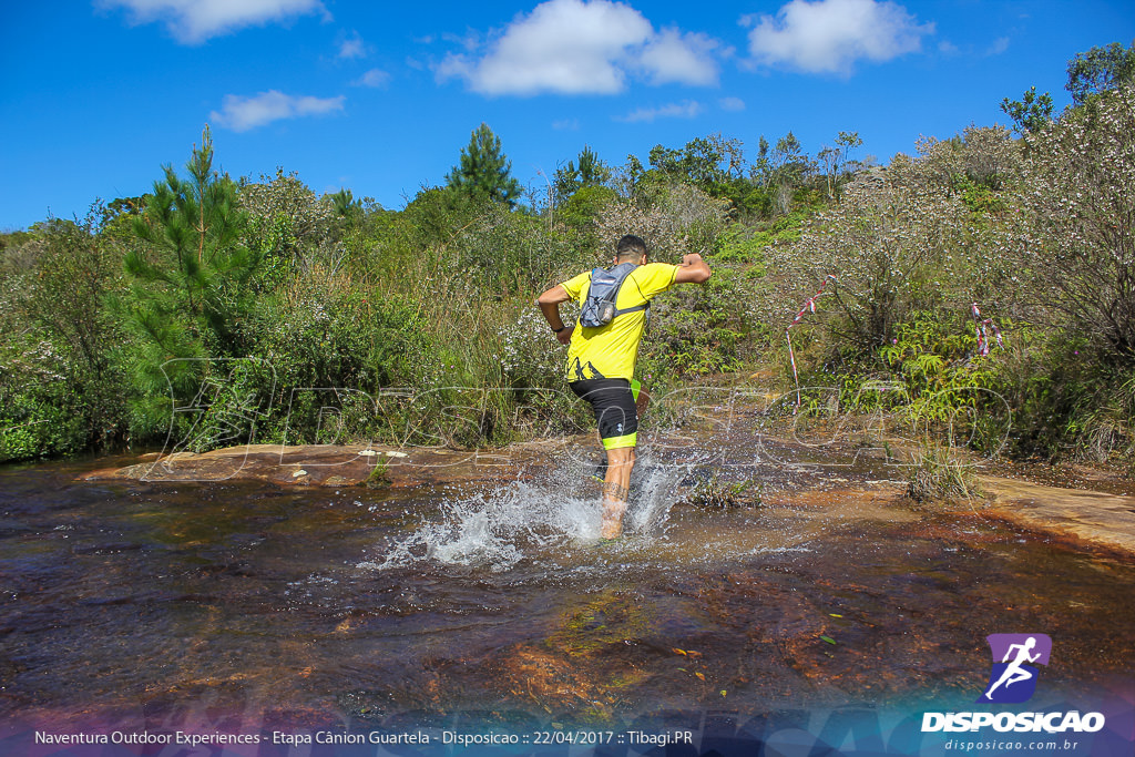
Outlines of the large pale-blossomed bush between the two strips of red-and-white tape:
{"type": "Polygon", "coordinates": [[[834,276],[823,310],[826,342],[864,355],[891,343],[916,311],[964,313],[1011,276],[1000,249],[1006,225],[967,188],[1004,187],[1019,170],[1019,149],[1003,129],[970,128],[965,140],[924,140],[918,158],[898,155],[865,171],[839,202],[814,216],[799,241],[770,251],[780,283],[771,317],[788,326],[801,303],[834,276]]]}

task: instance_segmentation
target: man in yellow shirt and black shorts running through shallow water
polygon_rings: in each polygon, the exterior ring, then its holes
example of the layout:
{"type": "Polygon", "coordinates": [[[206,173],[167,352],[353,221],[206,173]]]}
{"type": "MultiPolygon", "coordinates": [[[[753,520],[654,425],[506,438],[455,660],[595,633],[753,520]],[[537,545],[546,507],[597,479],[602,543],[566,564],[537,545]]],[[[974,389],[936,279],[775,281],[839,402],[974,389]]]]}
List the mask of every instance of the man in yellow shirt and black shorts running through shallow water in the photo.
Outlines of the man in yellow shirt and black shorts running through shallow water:
{"type": "MultiPolygon", "coordinates": [[[[565,326],[560,304],[585,302],[591,271],[585,271],[540,295],[537,303],[561,344],[568,345],[568,386],[591,404],[599,438],[607,453],[603,481],[603,539],[617,539],[630,495],[631,469],[638,440],[639,384],[634,363],[646,327],[646,305],[675,284],[701,284],[711,276],[701,255],[684,255],[680,266],[647,262],[649,251],[640,237],[628,234],[615,245],[614,263],[637,268],[623,280],[615,306],[624,312],[599,328],[565,326]]],[[[645,399],[645,396],[642,397],[645,399]]]]}

